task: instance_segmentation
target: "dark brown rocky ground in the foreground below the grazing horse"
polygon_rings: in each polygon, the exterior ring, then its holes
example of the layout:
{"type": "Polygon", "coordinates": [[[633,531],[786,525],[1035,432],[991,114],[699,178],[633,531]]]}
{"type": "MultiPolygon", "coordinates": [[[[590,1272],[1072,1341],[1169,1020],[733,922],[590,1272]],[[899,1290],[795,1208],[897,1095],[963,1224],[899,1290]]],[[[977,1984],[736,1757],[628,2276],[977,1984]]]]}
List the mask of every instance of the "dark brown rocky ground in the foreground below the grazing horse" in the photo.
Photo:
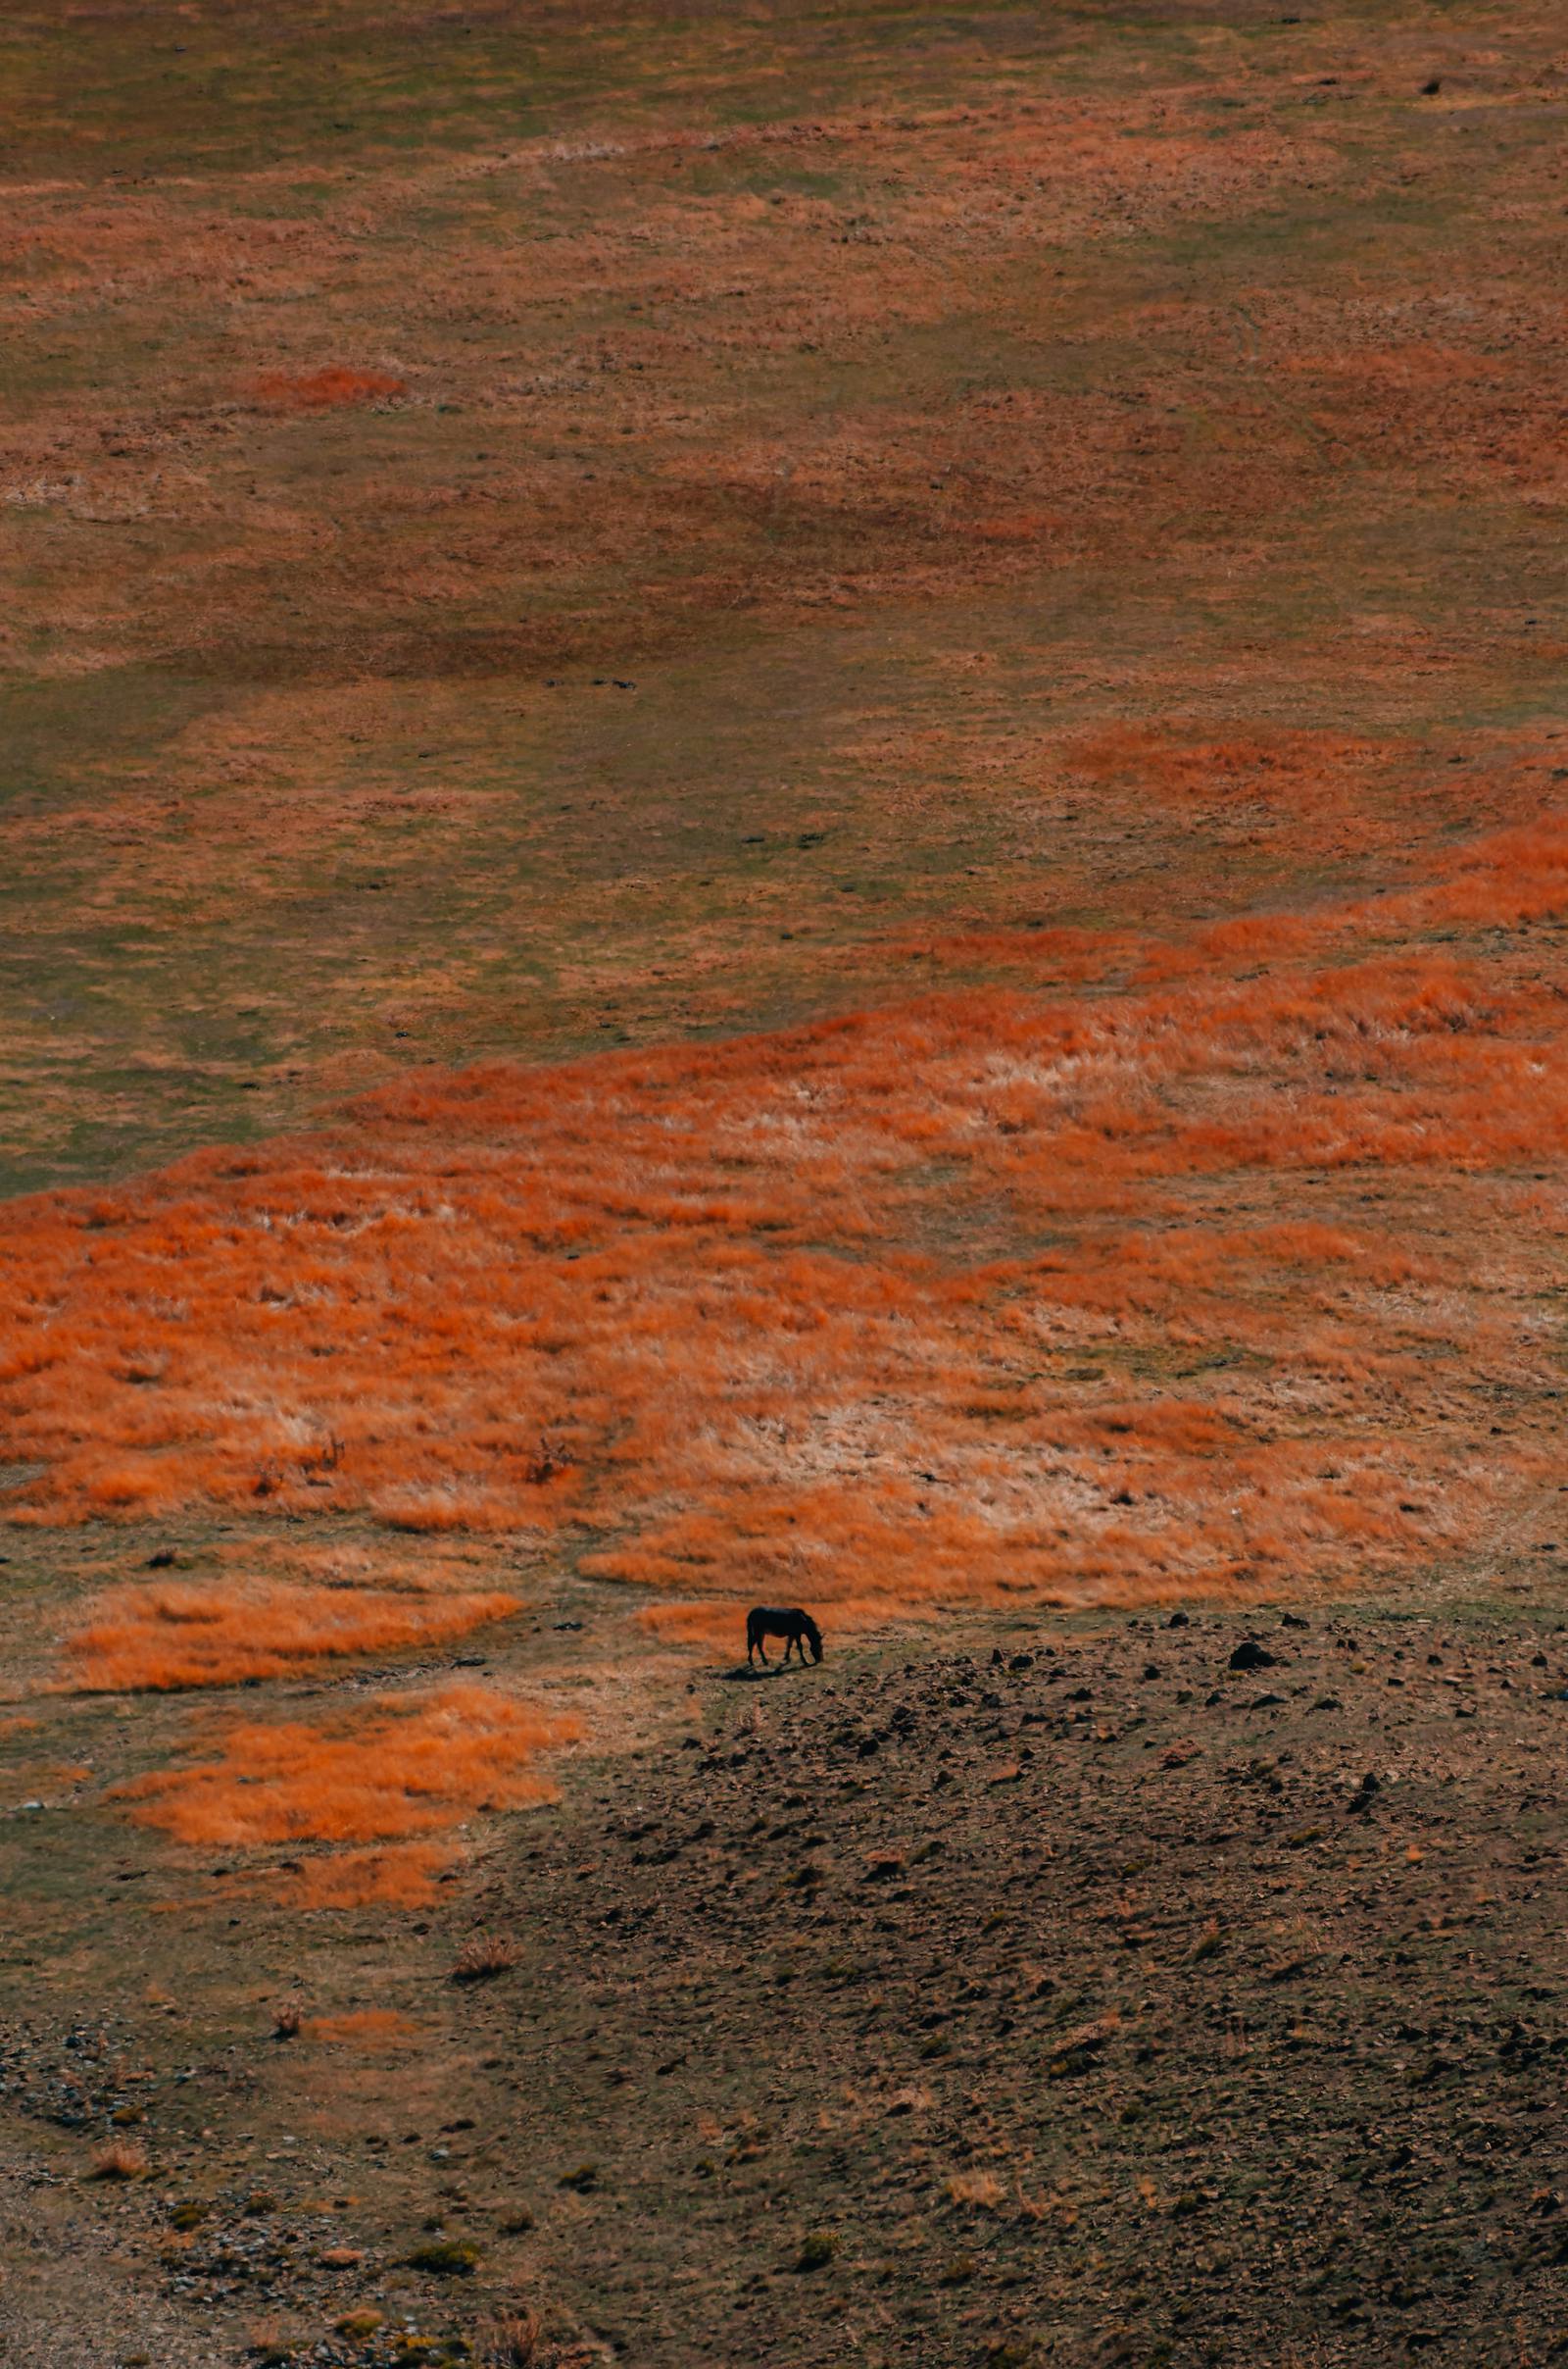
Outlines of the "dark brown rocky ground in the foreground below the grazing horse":
{"type": "Polygon", "coordinates": [[[12,2236],[111,2243],[156,2333],[50,2350],[24,2270],[7,2357],[1563,2355],[1556,1618],[1030,1623],[685,1708],[381,1917],[379,2087],[308,2028],[178,2061],[180,2002],[14,2030],[12,2236]],[[83,2179],[116,2134],[147,2177],[83,2179]]]}

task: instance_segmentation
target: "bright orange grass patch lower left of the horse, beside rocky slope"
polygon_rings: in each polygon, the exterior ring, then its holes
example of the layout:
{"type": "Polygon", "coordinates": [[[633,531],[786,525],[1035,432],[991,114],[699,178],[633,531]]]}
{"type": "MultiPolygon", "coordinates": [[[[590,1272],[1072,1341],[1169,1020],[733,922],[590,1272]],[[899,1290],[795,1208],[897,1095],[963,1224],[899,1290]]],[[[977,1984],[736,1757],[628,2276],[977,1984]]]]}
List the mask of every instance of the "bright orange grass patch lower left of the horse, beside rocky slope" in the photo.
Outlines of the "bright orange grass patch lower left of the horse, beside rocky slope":
{"type": "Polygon", "coordinates": [[[578,1720],[452,1684],[327,1720],[237,1722],[218,1758],[111,1793],[180,1843],[372,1843],[438,1834],[471,1810],[552,1800],[535,1760],[578,1734],[578,1720]]]}

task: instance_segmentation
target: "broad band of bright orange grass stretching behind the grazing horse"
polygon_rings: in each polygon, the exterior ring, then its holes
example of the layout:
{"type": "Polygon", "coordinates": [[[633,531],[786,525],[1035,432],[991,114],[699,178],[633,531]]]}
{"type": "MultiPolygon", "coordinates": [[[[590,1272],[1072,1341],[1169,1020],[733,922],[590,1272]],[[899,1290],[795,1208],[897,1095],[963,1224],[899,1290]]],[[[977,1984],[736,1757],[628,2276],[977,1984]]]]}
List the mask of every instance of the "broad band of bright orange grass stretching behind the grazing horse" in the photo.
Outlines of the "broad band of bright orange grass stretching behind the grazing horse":
{"type": "Polygon", "coordinates": [[[1454,1552],[1540,1469],[1485,1417],[1551,1379],[1561,914],[1549,817],[1120,993],[426,1076],[21,1203],[12,1519],[369,1509],[682,1606],[1454,1552]]]}

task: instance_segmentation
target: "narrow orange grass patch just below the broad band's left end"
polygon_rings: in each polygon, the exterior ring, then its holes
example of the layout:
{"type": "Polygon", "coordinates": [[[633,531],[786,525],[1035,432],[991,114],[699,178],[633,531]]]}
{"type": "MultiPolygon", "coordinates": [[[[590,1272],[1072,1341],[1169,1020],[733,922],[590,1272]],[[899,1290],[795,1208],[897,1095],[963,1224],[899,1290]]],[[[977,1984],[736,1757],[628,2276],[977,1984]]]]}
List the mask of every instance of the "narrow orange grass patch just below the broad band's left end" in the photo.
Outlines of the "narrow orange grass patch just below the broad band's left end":
{"type": "Polygon", "coordinates": [[[327,1654],[388,1654],[505,1620],[521,1599],[393,1594],[358,1587],[159,1582],[114,1587],[69,1642],[69,1684],[83,1694],[237,1687],[327,1654]]]}

